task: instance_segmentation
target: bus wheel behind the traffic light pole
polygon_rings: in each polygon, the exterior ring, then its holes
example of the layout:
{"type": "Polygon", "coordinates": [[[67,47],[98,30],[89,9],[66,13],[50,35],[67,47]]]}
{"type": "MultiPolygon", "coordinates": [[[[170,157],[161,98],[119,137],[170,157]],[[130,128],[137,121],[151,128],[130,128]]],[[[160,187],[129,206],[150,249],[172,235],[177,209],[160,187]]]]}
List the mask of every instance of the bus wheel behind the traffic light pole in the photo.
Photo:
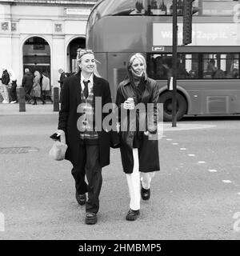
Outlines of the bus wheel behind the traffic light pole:
{"type": "MultiPolygon", "coordinates": [[[[163,103],[163,121],[172,121],[172,92],[168,91],[159,96],[158,102],[163,103]]],[[[186,99],[177,93],[177,120],[186,114],[186,99]]]]}

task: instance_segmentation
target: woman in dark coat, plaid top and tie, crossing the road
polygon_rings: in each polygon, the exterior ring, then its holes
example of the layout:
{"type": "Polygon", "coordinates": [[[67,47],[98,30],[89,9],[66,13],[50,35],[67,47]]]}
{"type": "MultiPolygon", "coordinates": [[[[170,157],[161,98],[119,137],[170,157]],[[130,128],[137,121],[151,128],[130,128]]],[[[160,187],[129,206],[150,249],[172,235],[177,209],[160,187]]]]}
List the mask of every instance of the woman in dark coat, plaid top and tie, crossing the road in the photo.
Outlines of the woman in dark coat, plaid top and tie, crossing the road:
{"type": "MultiPolygon", "coordinates": [[[[102,188],[102,167],[110,164],[110,142],[116,145],[118,134],[103,129],[96,131],[91,121],[95,119],[95,111],[100,109],[95,110],[97,97],[102,98],[102,107],[112,102],[109,83],[94,74],[94,53],[82,51],[78,65],[78,74],[64,82],[56,133],[66,134],[66,159],[73,164],[76,199],[78,204],[86,204],[86,224],[95,224],[102,188]]],[[[102,120],[107,114],[102,113],[102,120]]]]}

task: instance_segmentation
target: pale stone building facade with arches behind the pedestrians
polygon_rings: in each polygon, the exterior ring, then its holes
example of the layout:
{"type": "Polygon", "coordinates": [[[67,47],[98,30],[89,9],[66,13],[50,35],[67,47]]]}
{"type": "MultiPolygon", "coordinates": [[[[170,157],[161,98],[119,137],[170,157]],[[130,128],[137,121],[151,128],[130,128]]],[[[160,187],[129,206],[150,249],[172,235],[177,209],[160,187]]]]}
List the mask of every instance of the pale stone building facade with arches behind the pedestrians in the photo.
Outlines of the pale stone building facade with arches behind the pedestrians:
{"type": "Polygon", "coordinates": [[[0,0],[0,67],[12,68],[21,86],[26,67],[46,72],[58,86],[58,69],[74,72],[85,48],[86,22],[97,0],[0,0]]]}

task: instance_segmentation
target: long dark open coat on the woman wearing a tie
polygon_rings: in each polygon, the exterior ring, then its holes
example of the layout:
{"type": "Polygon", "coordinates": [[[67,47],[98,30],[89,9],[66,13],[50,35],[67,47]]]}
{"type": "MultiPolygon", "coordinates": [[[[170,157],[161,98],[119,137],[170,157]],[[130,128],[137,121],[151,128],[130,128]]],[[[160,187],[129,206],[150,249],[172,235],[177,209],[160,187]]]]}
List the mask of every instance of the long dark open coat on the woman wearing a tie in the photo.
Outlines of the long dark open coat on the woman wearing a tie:
{"type": "MultiPolygon", "coordinates": [[[[79,162],[85,161],[79,153],[80,134],[77,128],[78,118],[81,113],[77,113],[77,108],[81,101],[81,72],[75,74],[64,81],[62,91],[62,104],[59,111],[58,129],[64,130],[66,134],[66,150],[65,158],[72,162],[73,165],[78,165],[79,162]]],[[[110,94],[109,83],[103,79],[94,76],[94,102],[96,97],[102,98],[102,107],[106,103],[112,102],[110,94]]],[[[93,103],[94,103],[93,102],[93,103]]],[[[97,110],[99,111],[99,109],[97,110]]],[[[102,112],[102,109],[100,110],[102,112]]],[[[102,120],[108,114],[102,114],[102,120]]],[[[118,134],[114,131],[101,130],[98,131],[98,146],[100,166],[107,166],[110,164],[110,143],[117,144],[118,134]]]]}

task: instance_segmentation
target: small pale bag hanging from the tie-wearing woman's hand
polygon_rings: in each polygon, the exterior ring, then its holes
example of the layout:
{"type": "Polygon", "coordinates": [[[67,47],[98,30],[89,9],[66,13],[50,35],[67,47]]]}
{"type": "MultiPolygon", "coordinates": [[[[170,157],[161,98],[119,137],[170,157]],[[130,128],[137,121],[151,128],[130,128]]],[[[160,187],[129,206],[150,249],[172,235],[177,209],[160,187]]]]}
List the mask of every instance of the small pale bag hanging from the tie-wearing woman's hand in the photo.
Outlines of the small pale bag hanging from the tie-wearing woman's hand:
{"type": "Polygon", "coordinates": [[[66,138],[65,134],[61,134],[61,141],[58,140],[54,142],[54,145],[49,151],[50,158],[61,161],[65,159],[65,153],[66,153],[67,145],[66,145],[66,138]]]}

